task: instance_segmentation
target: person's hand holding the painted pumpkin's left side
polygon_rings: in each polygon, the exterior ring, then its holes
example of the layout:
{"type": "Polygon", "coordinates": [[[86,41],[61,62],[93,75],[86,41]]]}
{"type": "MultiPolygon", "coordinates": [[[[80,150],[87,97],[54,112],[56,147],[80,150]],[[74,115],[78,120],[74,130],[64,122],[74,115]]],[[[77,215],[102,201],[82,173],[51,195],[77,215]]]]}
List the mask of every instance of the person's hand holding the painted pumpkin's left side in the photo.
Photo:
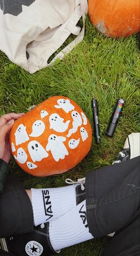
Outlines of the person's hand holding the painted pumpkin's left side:
{"type": "Polygon", "coordinates": [[[24,113],[9,113],[6,115],[2,115],[0,118],[0,159],[9,163],[11,159],[11,151],[9,147],[9,132],[14,124],[14,121],[24,113]]]}

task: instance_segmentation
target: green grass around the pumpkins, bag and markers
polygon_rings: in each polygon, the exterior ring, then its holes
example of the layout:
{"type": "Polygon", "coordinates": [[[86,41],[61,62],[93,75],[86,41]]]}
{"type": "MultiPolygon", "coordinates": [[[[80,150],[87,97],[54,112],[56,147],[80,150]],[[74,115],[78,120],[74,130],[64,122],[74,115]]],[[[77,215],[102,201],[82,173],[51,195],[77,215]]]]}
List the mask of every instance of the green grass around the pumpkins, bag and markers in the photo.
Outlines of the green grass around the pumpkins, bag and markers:
{"type": "MultiPolygon", "coordinates": [[[[56,61],[53,67],[32,75],[0,53],[0,115],[27,112],[31,105],[58,94],[75,100],[91,125],[91,99],[98,100],[101,144],[98,146],[93,139],[90,153],[79,165],[62,175],[46,178],[24,173],[11,160],[10,172],[20,176],[26,188],[64,186],[66,178],[81,178],[90,170],[111,165],[127,135],[139,131],[138,35],[117,40],[105,38],[87,20],[84,40],[63,61],[56,61]],[[119,97],[125,99],[125,107],[114,137],[109,138],[105,132],[119,97]]],[[[98,256],[107,240],[96,239],[75,245],[63,249],[60,255],[98,256]]]]}

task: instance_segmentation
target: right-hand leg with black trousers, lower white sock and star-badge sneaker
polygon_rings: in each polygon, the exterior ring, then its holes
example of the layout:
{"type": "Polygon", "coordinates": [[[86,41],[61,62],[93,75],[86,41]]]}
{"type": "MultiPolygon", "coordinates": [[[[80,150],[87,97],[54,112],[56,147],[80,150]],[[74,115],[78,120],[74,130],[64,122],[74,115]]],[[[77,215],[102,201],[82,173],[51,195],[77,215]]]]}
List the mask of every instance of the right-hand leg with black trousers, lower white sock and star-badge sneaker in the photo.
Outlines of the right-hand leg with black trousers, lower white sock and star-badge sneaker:
{"type": "MultiPolygon", "coordinates": [[[[28,245],[30,250],[33,249],[34,245],[30,241],[35,239],[37,242],[42,241],[39,244],[45,246],[44,252],[48,245],[55,252],[94,236],[119,232],[129,224],[139,207],[138,163],[137,157],[88,173],[85,178],[87,213],[84,200],[58,219],[35,227],[33,233],[8,238],[11,252],[19,250],[15,245],[20,241],[23,250],[28,245]]],[[[51,255],[51,251],[48,255],[51,255]]]]}

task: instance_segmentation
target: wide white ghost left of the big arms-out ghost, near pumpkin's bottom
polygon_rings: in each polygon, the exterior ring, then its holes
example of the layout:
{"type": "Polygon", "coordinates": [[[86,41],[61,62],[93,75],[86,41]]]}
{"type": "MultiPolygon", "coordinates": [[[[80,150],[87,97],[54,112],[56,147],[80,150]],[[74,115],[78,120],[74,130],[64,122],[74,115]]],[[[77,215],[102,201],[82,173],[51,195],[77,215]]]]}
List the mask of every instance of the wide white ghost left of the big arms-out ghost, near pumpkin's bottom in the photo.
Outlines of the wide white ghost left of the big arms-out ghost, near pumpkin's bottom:
{"type": "Polygon", "coordinates": [[[49,154],[42,147],[42,145],[36,140],[32,140],[30,141],[30,143],[28,143],[28,153],[30,154],[30,157],[33,160],[33,162],[39,162],[43,158],[49,156],[49,154]]]}

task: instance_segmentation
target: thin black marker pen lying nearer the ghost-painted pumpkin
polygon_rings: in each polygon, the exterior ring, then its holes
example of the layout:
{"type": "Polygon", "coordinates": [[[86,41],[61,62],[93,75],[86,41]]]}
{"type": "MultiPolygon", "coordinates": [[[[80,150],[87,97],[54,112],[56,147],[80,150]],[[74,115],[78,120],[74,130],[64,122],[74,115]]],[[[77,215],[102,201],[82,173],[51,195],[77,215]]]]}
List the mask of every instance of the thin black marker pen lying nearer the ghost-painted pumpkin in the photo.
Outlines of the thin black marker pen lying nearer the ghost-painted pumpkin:
{"type": "Polygon", "coordinates": [[[96,143],[101,142],[100,138],[100,130],[99,130],[99,125],[98,125],[98,105],[97,105],[97,100],[93,99],[92,100],[92,109],[93,109],[93,125],[94,125],[94,135],[96,138],[96,143]]]}

